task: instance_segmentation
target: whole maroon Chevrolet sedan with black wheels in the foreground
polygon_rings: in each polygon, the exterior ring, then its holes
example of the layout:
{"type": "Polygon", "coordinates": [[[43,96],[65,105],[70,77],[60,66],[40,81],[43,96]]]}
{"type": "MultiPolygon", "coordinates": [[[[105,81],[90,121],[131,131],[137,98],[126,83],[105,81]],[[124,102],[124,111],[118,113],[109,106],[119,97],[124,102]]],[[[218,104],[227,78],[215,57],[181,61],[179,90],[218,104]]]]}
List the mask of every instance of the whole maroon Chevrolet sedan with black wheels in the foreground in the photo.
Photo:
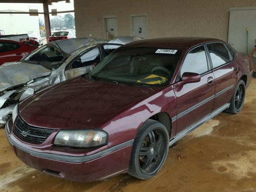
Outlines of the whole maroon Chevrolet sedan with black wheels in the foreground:
{"type": "Polygon", "coordinates": [[[251,79],[248,56],[221,40],[140,40],[22,101],[6,134],[24,163],[60,178],[149,179],[169,146],[224,110],[240,112],[251,79]]]}

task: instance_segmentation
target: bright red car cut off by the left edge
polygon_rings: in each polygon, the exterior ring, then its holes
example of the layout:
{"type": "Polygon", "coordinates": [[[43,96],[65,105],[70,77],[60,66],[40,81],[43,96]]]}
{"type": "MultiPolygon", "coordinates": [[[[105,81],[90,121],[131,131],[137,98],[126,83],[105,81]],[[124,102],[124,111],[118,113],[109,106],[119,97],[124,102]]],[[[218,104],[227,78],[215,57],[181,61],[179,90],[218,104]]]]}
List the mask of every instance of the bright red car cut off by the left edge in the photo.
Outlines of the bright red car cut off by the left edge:
{"type": "Polygon", "coordinates": [[[0,39],[0,66],[6,62],[19,61],[37,48],[37,45],[0,39]]]}

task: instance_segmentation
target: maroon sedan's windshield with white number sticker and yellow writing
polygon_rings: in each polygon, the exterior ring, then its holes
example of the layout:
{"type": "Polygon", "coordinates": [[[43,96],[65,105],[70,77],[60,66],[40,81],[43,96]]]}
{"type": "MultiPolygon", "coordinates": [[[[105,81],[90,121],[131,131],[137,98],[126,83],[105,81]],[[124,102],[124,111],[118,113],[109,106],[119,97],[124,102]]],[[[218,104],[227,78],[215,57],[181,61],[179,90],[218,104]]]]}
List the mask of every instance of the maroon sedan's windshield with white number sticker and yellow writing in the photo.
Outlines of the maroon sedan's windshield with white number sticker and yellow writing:
{"type": "Polygon", "coordinates": [[[154,47],[123,47],[90,72],[98,81],[130,86],[165,86],[170,83],[181,51],[154,47]]]}

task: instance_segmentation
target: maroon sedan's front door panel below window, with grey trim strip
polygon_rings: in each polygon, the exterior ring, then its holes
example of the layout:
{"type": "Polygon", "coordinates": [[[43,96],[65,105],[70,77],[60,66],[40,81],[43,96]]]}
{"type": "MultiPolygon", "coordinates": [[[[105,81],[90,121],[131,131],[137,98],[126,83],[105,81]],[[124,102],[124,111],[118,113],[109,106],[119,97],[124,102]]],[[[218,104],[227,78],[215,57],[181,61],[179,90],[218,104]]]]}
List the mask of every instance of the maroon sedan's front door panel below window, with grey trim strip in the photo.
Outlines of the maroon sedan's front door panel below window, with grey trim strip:
{"type": "Polygon", "coordinates": [[[212,71],[201,76],[200,82],[184,84],[174,89],[177,102],[176,134],[198,122],[212,112],[214,103],[214,81],[207,80],[214,77],[212,71]]]}

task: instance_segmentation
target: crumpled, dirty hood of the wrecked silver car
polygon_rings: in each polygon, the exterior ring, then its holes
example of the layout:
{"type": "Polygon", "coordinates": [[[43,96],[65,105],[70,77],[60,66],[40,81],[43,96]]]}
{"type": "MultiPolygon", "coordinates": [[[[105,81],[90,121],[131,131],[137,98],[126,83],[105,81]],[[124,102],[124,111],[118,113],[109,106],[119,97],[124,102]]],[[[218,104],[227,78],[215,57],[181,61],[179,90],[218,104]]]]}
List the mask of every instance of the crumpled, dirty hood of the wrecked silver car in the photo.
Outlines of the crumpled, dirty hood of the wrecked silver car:
{"type": "Polygon", "coordinates": [[[41,65],[10,62],[0,66],[0,91],[24,84],[38,77],[48,76],[52,71],[41,65]]]}

